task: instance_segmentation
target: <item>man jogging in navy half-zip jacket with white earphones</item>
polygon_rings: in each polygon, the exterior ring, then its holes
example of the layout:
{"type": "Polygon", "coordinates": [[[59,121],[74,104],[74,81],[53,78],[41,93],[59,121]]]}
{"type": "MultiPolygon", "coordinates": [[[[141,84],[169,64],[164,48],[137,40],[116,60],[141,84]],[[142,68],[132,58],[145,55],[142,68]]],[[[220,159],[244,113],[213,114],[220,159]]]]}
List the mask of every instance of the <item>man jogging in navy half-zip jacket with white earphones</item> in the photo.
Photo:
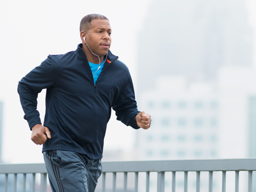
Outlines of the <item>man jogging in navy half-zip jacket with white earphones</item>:
{"type": "Polygon", "coordinates": [[[117,120],[148,129],[150,115],[137,110],[128,68],[113,55],[111,27],[91,14],[80,23],[82,43],[64,55],[49,55],[19,81],[18,93],[32,130],[43,144],[53,192],[93,192],[102,172],[101,158],[111,108],[117,120]],[[37,95],[46,88],[44,125],[37,95]]]}

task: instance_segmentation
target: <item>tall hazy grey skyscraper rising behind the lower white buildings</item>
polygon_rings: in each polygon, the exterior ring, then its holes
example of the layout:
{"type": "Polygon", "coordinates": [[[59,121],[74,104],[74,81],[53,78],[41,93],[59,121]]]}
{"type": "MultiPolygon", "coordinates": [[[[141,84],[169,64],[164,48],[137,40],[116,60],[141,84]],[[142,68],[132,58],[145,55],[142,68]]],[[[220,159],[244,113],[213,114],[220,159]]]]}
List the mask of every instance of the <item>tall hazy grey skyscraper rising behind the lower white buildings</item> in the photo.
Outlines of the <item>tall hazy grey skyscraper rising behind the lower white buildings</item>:
{"type": "Polygon", "coordinates": [[[250,66],[252,42],[243,0],[155,0],[138,35],[138,91],[161,76],[215,81],[220,66],[250,66]]]}

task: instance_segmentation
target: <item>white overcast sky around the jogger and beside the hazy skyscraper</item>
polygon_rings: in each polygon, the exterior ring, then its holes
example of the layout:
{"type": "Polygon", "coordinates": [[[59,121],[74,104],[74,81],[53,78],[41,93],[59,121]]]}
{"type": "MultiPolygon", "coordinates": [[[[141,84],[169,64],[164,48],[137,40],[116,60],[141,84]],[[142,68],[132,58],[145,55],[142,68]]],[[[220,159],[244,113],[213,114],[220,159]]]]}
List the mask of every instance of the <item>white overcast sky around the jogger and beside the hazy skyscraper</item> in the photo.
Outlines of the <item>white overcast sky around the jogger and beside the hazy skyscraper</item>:
{"type": "MultiPolygon", "coordinates": [[[[6,163],[43,162],[42,146],[30,140],[31,131],[23,119],[24,112],[17,93],[18,81],[49,54],[75,50],[81,42],[79,24],[85,15],[99,13],[108,17],[112,27],[110,50],[130,69],[136,91],[136,84],[143,83],[136,82],[137,35],[151,1],[1,1],[0,100],[4,101],[2,156],[6,163]]],[[[247,3],[250,22],[255,27],[256,3],[254,0],[247,0],[247,3]]],[[[149,41],[153,40],[154,36],[149,41]]],[[[43,91],[38,97],[42,121],[44,95],[43,91]]],[[[136,130],[124,126],[115,118],[113,114],[108,124],[104,149],[132,148],[136,130]]]]}

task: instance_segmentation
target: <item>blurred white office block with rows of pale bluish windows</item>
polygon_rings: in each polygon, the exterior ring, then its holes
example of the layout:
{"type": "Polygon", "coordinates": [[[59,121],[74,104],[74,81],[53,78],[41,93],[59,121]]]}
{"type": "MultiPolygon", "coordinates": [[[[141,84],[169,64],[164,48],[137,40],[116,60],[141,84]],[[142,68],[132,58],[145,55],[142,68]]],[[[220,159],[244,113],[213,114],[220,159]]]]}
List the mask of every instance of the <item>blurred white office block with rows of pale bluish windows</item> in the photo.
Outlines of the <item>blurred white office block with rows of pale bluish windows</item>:
{"type": "MultiPolygon", "coordinates": [[[[163,77],[157,81],[157,89],[145,91],[141,97],[140,108],[153,120],[148,131],[138,130],[140,160],[220,157],[220,99],[211,84],[188,84],[184,77],[163,77]]],[[[202,183],[208,180],[201,178],[202,183]]],[[[188,185],[196,187],[196,175],[189,176],[188,185]]],[[[184,191],[183,186],[184,175],[178,173],[176,191],[184,191]]],[[[207,191],[205,187],[201,190],[207,191]]],[[[150,188],[156,188],[156,184],[150,188]]],[[[171,182],[165,188],[171,190],[171,182]]]]}

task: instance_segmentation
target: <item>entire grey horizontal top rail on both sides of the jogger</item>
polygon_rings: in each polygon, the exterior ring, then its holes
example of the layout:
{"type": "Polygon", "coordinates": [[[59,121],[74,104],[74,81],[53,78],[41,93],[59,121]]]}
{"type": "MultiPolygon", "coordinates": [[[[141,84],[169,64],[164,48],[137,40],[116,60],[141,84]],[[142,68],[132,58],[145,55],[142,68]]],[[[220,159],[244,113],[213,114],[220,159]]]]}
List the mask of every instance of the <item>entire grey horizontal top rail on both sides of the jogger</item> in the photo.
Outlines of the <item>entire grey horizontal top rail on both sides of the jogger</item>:
{"type": "MultiPolygon", "coordinates": [[[[254,171],[256,158],[102,162],[102,172],[254,171]]],[[[47,173],[42,164],[0,164],[0,173],[47,173]]]]}

